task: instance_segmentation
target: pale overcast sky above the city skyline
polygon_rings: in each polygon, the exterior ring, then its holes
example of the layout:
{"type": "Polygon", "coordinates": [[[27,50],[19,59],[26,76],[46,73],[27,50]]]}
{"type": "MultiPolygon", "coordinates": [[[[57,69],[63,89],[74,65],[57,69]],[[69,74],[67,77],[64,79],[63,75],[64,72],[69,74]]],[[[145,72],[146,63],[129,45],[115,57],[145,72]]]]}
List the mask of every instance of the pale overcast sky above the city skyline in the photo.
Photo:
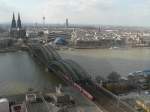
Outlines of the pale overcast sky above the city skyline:
{"type": "Polygon", "coordinates": [[[0,22],[11,22],[12,13],[22,21],[150,26],[150,0],[0,0],[0,22]]]}

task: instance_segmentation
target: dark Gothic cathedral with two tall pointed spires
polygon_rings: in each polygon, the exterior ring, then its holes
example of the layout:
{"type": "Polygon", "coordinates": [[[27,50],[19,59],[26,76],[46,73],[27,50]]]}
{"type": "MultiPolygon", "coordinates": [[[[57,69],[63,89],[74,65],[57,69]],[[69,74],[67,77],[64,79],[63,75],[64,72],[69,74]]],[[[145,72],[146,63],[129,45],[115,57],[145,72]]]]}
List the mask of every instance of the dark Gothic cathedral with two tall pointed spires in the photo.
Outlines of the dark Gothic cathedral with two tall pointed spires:
{"type": "Polygon", "coordinates": [[[22,28],[22,23],[20,19],[20,14],[18,14],[18,20],[15,20],[15,14],[13,13],[11,28],[10,28],[10,37],[12,38],[25,38],[26,37],[26,30],[22,28]]]}

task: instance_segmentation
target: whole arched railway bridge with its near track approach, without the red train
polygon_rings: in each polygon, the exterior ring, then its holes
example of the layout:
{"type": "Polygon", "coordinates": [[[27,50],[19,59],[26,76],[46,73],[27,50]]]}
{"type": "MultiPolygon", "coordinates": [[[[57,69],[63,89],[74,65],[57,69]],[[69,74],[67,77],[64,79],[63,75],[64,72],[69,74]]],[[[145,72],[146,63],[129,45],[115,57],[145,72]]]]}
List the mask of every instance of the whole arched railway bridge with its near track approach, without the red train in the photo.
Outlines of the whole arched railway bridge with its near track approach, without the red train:
{"type": "MultiPolygon", "coordinates": [[[[80,85],[95,97],[95,103],[102,108],[104,112],[135,112],[120,101],[118,98],[110,94],[107,90],[97,86],[91,80],[88,73],[76,62],[72,60],[64,60],[50,45],[30,44],[29,51],[43,63],[48,69],[62,78],[68,78],[71,83],[80,85]]],[[[79,87],[80,89],[80,87],[79,87]]],[[[80,92],[83,92],[82,90],[80,92]]],[[[84,92],[83,92],[84,93],[84,92]]],[[[86,92],[84,94],[87,94],[86,92]]]]}

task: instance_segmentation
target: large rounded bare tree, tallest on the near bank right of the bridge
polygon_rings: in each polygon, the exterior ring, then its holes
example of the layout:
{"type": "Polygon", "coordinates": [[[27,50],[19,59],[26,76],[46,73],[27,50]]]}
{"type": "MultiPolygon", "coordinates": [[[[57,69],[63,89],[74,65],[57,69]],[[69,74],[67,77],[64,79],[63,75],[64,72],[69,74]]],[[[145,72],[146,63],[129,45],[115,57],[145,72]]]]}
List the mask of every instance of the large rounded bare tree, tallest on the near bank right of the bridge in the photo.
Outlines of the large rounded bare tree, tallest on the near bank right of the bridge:
{"type": "Polygon", "coordinates": [[[107,76],[107,79],[112,82],[118,82],[120,80],[120,77],[120,74],[113,71],[107,76]]]}

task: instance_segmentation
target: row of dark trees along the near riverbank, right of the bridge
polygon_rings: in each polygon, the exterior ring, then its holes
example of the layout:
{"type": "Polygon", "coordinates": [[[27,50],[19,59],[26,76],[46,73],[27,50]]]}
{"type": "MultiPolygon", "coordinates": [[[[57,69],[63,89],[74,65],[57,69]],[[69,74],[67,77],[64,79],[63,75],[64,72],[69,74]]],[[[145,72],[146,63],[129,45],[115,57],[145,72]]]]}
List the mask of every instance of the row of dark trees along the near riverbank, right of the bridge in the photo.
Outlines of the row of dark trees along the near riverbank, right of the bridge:
{"type": "Polygon", "coordinates": [[[130,82],[134,82],[131,80],[121,80],[121,75],[117,72],[111,72],[108,76],[107,79],[104,79],[101,76],[96,77],[97,83],[102,83],[105,88],[108,90],[112,91],[113,93],[120,94],[120,93],[125,93],[129,92],[132,90],[135,90],[137,88],[140,89],[150,89],[150,75],[147,75],[145,78],[145,83],[144,84],[133,84],[130,82]],[[144,87],[141,87],[143,86],[144,87]]]}

